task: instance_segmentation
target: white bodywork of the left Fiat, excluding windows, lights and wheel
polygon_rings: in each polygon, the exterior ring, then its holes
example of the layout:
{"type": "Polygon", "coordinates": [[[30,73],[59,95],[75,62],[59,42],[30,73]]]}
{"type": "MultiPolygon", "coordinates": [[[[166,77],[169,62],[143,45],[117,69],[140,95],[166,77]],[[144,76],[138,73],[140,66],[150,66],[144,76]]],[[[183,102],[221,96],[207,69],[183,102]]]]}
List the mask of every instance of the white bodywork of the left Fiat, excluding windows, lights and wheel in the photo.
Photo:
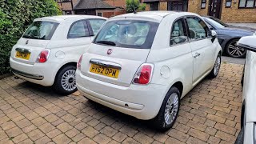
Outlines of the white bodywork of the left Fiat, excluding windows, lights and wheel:
{"type": "Polygon", "coordinates": [[[34,19],[34,22],[58,22],[59,25],[50,40],[20,38],[11,50],[10,67],[25,74],[40,75],[43,79],[37,80],[26,78],[20,74],[15,75],[26,81],[34,82],[42,86],[52,86],[58,70],[67,63],[78,62],[81,54],[86,51],[94,38],[93,36],[85,38],[67,38],[70,26],[79,20],[95,18],[106,20],[106,18],[89,15],[54,16],[34,19]],[[26,44],[27,41],[28,43],[26,44]],[[30,59],[24,60],[15,58],[16,48],[30,50],[30,59]],[[45,63],[36,62],[38,55],[45,49],[50,50],[50,55],[47,61],[45,63]]]}

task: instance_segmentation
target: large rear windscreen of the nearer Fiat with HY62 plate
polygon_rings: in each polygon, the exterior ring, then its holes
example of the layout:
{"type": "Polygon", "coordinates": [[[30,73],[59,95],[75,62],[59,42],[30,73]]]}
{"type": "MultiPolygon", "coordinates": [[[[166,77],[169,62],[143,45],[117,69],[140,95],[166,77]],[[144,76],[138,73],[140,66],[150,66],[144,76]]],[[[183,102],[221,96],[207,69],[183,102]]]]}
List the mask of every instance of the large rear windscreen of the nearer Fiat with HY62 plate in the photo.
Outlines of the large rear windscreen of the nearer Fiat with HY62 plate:
{"type": "Polygon", "coordinates": [[[118,20],[106,22],[94,39],[95,44],[110,44],[116,47],[150,49],[159,23],[118,20]]]}

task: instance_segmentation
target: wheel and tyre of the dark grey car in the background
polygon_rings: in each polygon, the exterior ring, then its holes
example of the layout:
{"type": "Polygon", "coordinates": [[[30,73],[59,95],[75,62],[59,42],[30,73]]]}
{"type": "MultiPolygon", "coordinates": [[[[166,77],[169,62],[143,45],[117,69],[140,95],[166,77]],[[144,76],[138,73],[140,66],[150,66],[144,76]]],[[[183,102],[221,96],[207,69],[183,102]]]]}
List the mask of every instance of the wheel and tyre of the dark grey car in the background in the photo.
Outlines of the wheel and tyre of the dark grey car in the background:
{"type": "Polygon", "coordinates": [[[236,38],[226,44],[226,54],[232,58],[246,58],[246,50],[238,47],[238,40],[236,38]]]}

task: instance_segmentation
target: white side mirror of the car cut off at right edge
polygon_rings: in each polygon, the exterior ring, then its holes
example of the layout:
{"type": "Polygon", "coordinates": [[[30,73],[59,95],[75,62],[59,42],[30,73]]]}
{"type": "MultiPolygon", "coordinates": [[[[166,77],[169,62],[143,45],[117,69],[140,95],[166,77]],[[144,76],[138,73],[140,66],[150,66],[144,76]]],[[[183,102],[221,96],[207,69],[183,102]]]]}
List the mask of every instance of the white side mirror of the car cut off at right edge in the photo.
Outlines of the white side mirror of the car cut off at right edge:
{"type": "Polygon", "coordinates": [[[256,36],[242,37],[238,41],[238,47],[256,52],[256,36]]]}

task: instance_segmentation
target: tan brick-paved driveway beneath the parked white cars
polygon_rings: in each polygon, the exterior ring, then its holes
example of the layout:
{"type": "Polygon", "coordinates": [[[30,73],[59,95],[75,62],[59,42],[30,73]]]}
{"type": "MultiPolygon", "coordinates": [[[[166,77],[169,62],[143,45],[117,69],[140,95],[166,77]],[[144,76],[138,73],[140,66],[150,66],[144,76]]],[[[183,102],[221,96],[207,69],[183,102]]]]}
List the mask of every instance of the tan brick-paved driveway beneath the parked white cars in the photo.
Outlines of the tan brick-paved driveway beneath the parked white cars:
{"type": "Polygon", "coordinates": [[[0,143],[234,143],[240,127],[242,65],[222,63],[182,99],[166,133],[90,102],[14,77],[0,81],[0,143]]]}

